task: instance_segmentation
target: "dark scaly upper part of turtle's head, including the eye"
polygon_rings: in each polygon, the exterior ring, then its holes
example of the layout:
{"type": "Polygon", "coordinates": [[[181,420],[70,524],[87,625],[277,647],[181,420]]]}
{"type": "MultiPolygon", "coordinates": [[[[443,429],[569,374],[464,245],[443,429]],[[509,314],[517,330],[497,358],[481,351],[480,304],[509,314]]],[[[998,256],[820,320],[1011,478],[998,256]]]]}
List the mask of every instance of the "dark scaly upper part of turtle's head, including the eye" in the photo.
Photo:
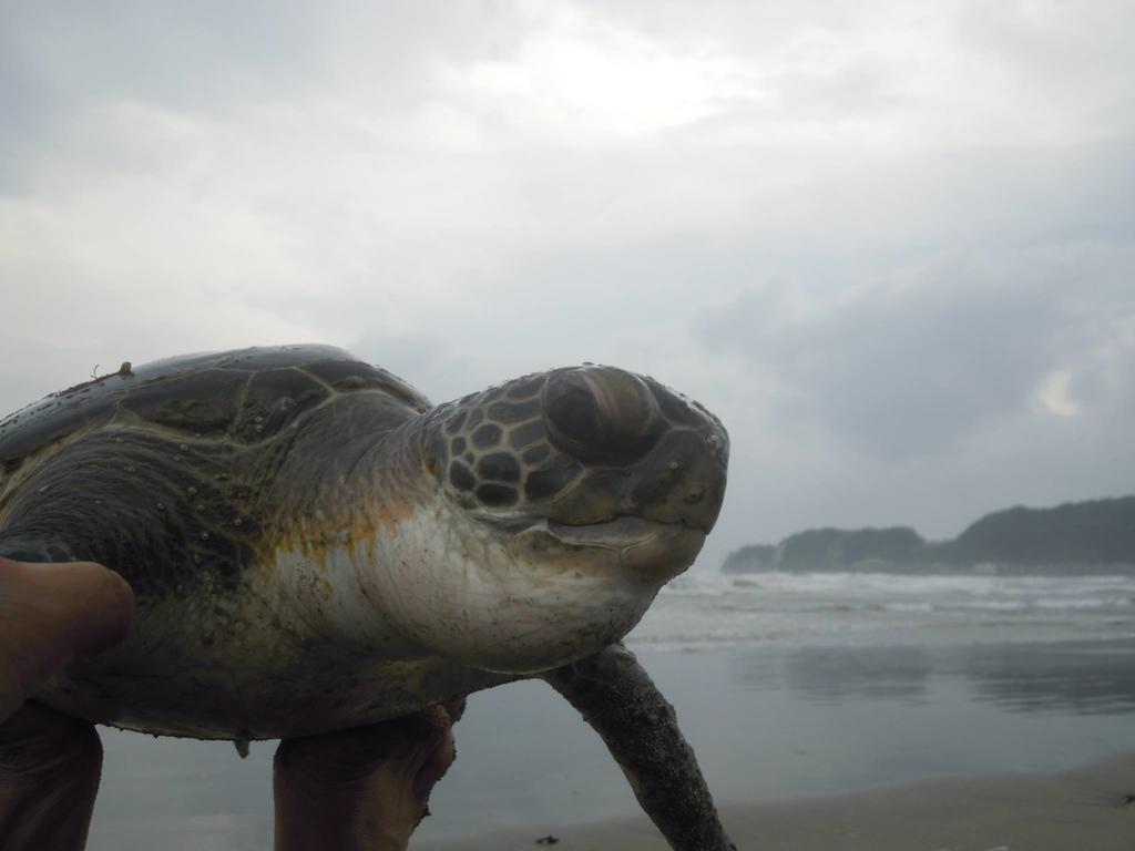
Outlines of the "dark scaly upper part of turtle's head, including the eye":
{"type": "Polygon", "coordinates": [[[612,366],[526,376],[443,406],[431,466],[464,508],[498,522],[639,517],[708,532],[729,438],[697,403],[612,366]]]}

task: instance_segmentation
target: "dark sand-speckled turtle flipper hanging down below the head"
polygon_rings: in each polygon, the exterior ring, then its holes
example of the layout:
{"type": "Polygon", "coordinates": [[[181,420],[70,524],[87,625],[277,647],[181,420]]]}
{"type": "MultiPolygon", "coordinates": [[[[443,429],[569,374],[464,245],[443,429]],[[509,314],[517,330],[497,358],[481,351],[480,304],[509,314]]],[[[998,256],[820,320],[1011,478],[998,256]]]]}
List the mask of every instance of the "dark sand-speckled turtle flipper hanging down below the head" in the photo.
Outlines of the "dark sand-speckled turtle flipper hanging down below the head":
{"type": "Polygon", "coordinates": [[[735,851],[674,708],[621,643],[541,674],[603,738],[675,851],[735,851]]]}

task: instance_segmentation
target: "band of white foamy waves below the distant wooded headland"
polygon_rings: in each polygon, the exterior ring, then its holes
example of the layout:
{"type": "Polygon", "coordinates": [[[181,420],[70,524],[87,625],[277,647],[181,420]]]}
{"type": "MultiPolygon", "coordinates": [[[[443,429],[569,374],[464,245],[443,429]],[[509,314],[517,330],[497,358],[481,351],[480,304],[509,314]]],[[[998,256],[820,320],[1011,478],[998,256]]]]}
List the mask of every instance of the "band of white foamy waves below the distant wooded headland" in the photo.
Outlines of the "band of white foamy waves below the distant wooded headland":
{"type": "Polygon", "coordinates": [[[1135,631],[1135,576],[695,573],[658,595],[632,646],[1040,640],[1135,631]]]}

